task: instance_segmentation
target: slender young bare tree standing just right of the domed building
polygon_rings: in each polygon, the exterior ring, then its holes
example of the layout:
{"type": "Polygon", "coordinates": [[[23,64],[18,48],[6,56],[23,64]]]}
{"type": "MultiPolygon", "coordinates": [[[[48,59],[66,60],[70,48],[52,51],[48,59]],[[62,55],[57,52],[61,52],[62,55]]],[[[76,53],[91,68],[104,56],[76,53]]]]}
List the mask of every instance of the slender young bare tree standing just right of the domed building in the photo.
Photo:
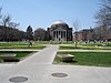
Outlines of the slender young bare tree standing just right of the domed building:
{"type": "Polygon", "coordinates": [[[77,45],[78,45],[78,31],[79,31],[79,29],[80,29],[80,27],[79,27],[80,24],[79,24],[79,21],[78,20],[75,20],[74,22],[73,22],[73,28],[74,28],[74,41],[75,41],[75,48],[77,48],[77,45]]]}

